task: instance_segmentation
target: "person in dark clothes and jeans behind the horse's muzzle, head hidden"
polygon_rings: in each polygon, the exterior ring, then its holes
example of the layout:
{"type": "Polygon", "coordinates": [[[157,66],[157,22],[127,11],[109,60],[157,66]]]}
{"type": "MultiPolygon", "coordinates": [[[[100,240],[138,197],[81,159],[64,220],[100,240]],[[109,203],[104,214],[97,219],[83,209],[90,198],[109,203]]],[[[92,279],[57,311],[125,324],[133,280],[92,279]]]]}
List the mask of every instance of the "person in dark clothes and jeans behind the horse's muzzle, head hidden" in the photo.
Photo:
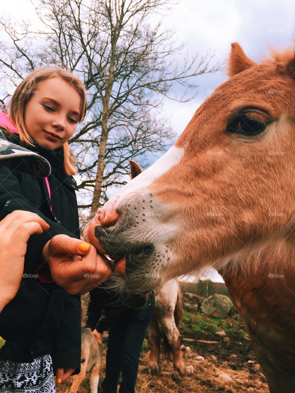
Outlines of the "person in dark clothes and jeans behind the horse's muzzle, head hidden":
{"type": "Polygon", "coordinates": [[[103,393],[116,393],[120,374],[120,393],[134,393],[138,364],[147,326],[151,320],[155,296],[149,293],[143,307],[127,307],[120,295],[106,285],[90,291],[87,325],[101,344],[103,331],[109,329],[103,393]],[[105,317],[100,319],[102,309],[105,317]]]}

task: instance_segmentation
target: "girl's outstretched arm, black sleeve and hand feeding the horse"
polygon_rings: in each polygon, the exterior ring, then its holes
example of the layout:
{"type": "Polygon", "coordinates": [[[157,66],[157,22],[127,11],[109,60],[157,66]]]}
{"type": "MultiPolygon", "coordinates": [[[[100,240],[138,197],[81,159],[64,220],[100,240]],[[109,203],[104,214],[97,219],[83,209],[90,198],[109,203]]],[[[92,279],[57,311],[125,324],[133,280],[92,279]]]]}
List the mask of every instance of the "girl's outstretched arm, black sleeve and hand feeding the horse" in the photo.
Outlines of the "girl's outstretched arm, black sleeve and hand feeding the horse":
{"type": "MultiPolygon", "coordinates": [[[[26,177],[24,177],[24,181],[25,179],[26,177]]],[[[74,254],[82,256],[83,261],[75,261],[72,263],[72,257],[68,258],[67,255],[72,252],[73,241],[76,241],[76,243],[74,243],[74,248],[77,248],[80,240],[73,239],[76,238],[76,236],[63,228],[63,226],[45,217],[37,208],[31,206],[30,202],[22,193],[20,182],[15,172],[11,172],[8,168],[2,168],[0,171],[0,220],[15,210],[25,210],[35,213],[44,219],[50,226],[50,228],[41,233],[41,235],[32,235],[28,240],[24,259],[25,273],[34,274],[38,263],[36,272],[39,274],[39,280],[42,281],[41,275],[43,272],[40,267],[42,263],[40,265],[39,262],[42,256],[41,252],[44,251],[44,247],[46,246],[46,250],[49,250],[49,254],[46,255],[45,259],[47,259],[50,267],[52,279],[71,294],[87,293],[93,288],[92,283],[98,285],[111,276],[111,265],[105,257],[98,255],[94,250],[90,249],[87,255],[85,255],[85,253],[74,254]],[[67,235],[66,238],[72,238],[71,242],[62,240],[62,244],[66,243],[63,253],[56,253],[57,248],[61,249],[60,238],[57,235],[67,235]],[[70,247],[71,250],[67,250],[68,247],[70,247]],[[89,273],[94,275],[91,277],[84,276],[89,273]]],[[[51,277],[49,276],[49,278],[51,277]]],[[[50,282],[50,280],[47,282],[50,282]]]]}

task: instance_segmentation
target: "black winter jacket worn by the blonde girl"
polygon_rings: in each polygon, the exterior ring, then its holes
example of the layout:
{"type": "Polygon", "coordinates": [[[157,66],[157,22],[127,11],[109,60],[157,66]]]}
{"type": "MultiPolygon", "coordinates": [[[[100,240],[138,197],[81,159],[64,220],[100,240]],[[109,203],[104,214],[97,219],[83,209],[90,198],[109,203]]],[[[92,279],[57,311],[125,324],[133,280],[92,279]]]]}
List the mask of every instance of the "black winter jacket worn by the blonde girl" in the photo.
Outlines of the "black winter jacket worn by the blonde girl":
{"type": "MultiPolygon", "coordinates": [[[[21,145],[17,134],[13,143],[21,145]]],[[[50,228],[30,237],[24,263],[24,277],[15,298],[0,313],[0,336],[6,344],[0,358],[32,362],[51,354],[53,369],[76,367],[81,361],[81,302],[79,295],[69,295],[55,283],[42,283],[35,268],[46,242],[57,234],[79,238],[79,219],[75,190],[76,181],[63,171],[63,154],[28,147],[45,157],[51,165],[48,189],[43,178],[3,167],[0,170],[0,220],[14,210],[37,213],[50,228]]]]}

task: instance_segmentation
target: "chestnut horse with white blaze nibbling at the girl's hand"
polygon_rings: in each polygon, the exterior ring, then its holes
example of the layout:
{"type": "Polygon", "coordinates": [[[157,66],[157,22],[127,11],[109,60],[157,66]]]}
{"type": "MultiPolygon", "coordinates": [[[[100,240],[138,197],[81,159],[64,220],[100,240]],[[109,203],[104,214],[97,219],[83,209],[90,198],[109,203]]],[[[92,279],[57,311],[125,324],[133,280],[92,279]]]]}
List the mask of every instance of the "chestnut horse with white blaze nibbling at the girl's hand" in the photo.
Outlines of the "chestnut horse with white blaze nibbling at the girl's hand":
{"type": "Polygon", "coordinates": [[[295,56],[232,44],[227,82],[85,228],[121,290],[216,268],[271,393],[295,391],[295,56]],[[185,258],[184,258],[185,256],[185,258]]]}

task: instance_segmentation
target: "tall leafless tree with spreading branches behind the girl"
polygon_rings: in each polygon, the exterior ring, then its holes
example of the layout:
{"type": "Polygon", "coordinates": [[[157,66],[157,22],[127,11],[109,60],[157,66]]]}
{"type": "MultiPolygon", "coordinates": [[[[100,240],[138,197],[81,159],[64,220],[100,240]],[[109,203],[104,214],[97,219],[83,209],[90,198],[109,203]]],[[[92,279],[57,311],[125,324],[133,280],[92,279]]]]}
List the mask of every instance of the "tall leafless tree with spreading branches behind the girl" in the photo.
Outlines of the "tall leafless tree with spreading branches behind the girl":
{"type": "Polygon", "coordinates": [[[83,80],[88,115],[70,143],[79,188],[92,194],[83,207],[95,213],[107,199],[106,190],[125,183],[131,158],[163,152],[171,143],[174,134],[160,113],[163,97],[192,99],[197,76],[221,65],[210,66],[214,55],[209,52],[177,63],[185,45],[176,45],[175,32],[159,20],[172,0],[32,2],[41,28],[25,22],[16,28],[7,18],[0,20],[11,39],[0,49],[0,80],[7,86],[1,101],[9,98],[10,86],[42,65],[65,67],[83,80]]]}

